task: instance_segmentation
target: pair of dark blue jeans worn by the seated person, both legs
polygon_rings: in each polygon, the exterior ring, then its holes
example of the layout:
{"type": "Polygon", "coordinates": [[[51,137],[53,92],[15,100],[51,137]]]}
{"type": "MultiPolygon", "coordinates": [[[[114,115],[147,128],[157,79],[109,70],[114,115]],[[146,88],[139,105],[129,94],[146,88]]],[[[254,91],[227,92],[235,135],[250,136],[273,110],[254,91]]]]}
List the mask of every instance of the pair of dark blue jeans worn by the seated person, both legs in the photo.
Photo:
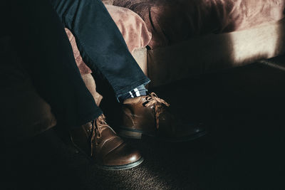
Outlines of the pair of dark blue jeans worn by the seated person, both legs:
{"type": "Polygon", "coordinates": [[[130,55],[99,0],[50,2],[12,1],[10,32],[21,62],[58,122],[79,127],[102,111],[81,78],[63,26],[76,37],[81,56],[95,73],[96,82],[108,83],[115,97],[150,80],[130,55]]]}

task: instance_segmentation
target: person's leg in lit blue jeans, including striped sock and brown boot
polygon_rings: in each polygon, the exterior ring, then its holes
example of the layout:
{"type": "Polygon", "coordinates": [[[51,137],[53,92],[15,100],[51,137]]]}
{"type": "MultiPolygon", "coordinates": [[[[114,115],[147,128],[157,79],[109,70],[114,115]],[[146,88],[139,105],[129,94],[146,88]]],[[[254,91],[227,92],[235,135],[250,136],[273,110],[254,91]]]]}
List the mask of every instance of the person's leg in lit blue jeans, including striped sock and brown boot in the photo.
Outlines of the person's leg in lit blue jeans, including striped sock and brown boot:
{"type": "MultiPolygon", "coordinates": [[[[167,102],[155,94],[145,95],[150,82],[131,56],[122,34],[100,0],[49,0],[76,37],[85,63],[98,79],[105,79],[123,105],[120,134],[140,138],[142,134],[169,141],[195,139],[204,134],[199,123],[181,122],[167,111],[167,102]]],[[[100,91],[99,91],[100,93],[100,91]]],[[[105,94],[103,94],[105,96],[105,94]]]]}

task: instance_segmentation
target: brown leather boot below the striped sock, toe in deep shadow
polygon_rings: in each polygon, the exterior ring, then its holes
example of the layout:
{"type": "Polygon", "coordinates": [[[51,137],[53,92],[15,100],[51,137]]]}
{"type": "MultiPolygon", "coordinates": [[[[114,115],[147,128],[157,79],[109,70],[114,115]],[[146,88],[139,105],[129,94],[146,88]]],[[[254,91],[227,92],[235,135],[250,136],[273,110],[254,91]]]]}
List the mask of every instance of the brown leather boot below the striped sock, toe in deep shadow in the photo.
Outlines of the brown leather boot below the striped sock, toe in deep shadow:
{"type": "Polygon", "coordinates": [[[118,134],[135,139],[146,134],[165,141],[180,142],[196,139],[206,133],[202,124],[185,123],[175,118],[169,106],[155,93],[125,100],[123,123],[118,134]]]}

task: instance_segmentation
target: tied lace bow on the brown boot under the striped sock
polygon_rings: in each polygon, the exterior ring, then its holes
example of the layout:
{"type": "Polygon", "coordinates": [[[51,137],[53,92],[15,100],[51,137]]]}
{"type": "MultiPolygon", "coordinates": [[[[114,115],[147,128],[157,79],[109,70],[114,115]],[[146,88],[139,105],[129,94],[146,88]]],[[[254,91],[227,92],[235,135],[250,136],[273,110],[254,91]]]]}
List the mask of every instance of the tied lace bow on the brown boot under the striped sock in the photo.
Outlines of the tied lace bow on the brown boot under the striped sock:
{"type": "Polygon", "coordinates": [[[164,107],[169,107],[170,104],[165,102],[165,100],[162,100],[161,98],[157,97],[155,93],[150,93],[145,100],[147,100],[147,104],[145,104],[146,107],[150,107],[152,105],[155,106],[155,120],[156,120],[156,128],[160,127],[160,114],[162,113],[164,107]]]}

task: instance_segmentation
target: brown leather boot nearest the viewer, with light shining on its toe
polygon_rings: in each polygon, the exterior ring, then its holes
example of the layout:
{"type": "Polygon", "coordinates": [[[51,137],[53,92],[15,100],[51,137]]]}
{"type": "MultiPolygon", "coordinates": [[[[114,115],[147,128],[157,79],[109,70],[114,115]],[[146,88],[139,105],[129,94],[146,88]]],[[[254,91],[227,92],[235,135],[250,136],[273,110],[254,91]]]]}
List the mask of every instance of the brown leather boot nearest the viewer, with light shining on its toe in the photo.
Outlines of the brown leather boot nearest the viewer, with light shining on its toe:
{"type": "Polygon", "coordinates": [[[93,123],[70,131],[70,134],[73,144],[102,169],[130,169],[143,161],[140,152],[123,142],[105,122],[104,115],[100,115],[93,123]]]}

